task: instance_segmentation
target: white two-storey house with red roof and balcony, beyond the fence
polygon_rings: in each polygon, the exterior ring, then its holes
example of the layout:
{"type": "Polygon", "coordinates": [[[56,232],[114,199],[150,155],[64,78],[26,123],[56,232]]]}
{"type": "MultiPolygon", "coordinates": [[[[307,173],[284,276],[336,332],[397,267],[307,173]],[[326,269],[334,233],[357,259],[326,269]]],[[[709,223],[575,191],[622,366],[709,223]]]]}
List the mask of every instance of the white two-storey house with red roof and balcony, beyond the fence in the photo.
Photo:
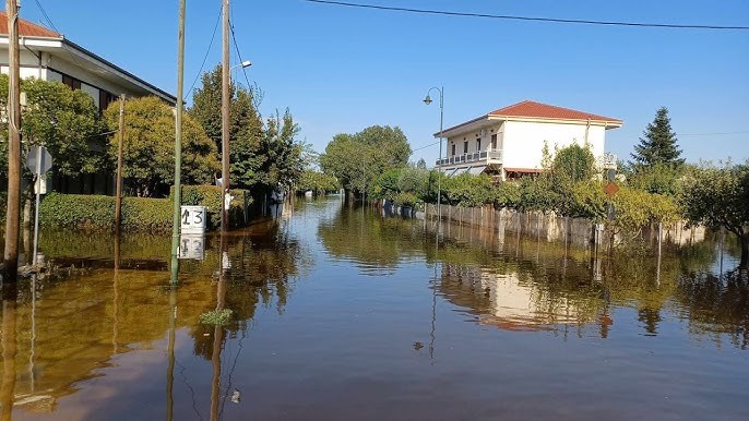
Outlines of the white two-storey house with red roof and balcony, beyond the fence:
{"type": "Polygon", "coordinates": [[[482,172],[506,180],[542,171],[544,145],[550,154],[572,144],[588,145],[598,166],[616,166],[606,154],[606,131],[622,121],[591,112],[525,100],[435,133],[447,139],[437,168],[449,175],[482,172]]]}

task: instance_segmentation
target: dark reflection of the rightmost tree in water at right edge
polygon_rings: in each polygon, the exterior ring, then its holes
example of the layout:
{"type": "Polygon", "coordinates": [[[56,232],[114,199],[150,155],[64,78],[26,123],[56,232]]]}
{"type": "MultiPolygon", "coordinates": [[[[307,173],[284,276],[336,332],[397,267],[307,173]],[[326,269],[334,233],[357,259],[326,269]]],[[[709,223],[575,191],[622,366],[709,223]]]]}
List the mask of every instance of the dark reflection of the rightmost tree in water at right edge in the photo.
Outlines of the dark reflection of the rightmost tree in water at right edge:
{"type": "Polygon", "coordinates": [[[680,315],[693,335],[706,336],[718,346],[728,335],[737,348],[749,348],[749,273],[734,269],[717,277],[691,273],[679,278],[675,292],[680,315]]]}

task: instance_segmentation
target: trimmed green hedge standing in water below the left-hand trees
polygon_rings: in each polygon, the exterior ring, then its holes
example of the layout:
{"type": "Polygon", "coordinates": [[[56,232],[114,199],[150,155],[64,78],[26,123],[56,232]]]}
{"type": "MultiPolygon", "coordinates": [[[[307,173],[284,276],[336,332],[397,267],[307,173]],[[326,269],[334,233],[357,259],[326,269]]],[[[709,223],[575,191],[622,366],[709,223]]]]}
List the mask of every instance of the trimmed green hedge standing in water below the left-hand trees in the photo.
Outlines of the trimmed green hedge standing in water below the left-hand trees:
{"type": "MultiPolygon", "coordinates": [[[[207,229],[221,226],[221,188],[215,185],[186,185],[182,205],[206,206],[207,229]]],[[[233,190],[229,207],[233,227],[245,225],[246,206],[252,201],[249,192],[233,190]]],[[[123,197],[122,229],[124,231],[169,232],[174,212],[168,199],[123,197]]],[[[115,197],[87,194],[49,193],[39,206],[39,224],[45,228],[84,230],[115,229],[115,197]]]]}

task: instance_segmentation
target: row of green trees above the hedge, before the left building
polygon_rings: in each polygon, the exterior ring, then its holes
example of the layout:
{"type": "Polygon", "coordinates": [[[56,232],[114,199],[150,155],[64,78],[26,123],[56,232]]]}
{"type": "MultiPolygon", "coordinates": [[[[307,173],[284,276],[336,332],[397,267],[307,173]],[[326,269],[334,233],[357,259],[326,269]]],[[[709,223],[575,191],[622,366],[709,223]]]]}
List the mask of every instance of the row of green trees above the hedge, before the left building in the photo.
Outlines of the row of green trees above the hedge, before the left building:
{"type": "MultiPolygon", "coordinates": [[[[182,120],[182,183],[212,184],[221,173],[221,65],[202,75],[182,120]]],[[[117,161],[119,101],[99,111],[83,91],[60,82],[22,81],[23,146],[44,145],[58,176],[114,176],[117,161]]],[[[230,86],[231,187],[261,196],[290,190],[304,169],[305,145],[290,111],[263,118],[257,86],[230,86]]],[[[0,106],[7,106],[8,76],[0,75],[0,106]]],[[[7,130],[7,120],[0,125],[7,130]]],[[[0,130],[3,130],[0,128],[0,130]]],[[[173,107],[148,96],[128,98],[124,107],[123,183],[128,195],[164,197],[174,183],[173,107]]],[[[0,143],[0,178],[7,177],[8,143],[0,143]]],[[[27,185],[31,171],[24,169],[27,185]]]]}

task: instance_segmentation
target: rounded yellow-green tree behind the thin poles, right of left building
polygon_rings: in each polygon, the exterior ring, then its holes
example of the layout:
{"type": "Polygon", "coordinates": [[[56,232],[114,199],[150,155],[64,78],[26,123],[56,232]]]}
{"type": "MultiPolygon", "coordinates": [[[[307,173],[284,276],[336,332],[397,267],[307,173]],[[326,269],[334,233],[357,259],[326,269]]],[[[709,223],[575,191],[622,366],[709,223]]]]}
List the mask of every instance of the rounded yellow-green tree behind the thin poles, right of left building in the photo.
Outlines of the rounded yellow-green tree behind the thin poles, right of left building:
{"type": "MultiPolygon", "coordinates": [[[[118,128],[119,105],[104,111],[109,130],[118,128]]],[[[131,194],[158,196],[174,183],[175,117],[157,97],[130,99],[124,106],[122,169],[131,194]]],[[[109,139],[109,155],[117,157],[117,135],[109,139]]],[[[191,117],[182,120],[182,182],[206,184],[219,170],[216,145],[191,117]]]]}

